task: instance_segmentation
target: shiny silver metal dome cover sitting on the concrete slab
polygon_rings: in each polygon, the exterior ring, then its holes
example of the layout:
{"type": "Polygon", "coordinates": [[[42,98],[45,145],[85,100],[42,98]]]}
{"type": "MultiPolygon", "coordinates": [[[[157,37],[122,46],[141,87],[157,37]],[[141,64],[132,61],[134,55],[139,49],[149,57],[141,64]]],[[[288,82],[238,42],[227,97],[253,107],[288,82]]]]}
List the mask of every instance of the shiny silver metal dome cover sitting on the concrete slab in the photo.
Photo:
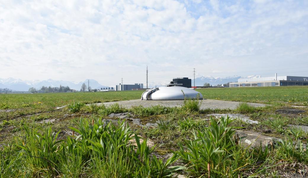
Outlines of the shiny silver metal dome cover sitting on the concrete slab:
{"type": "Polygon", "coordinates": [[[203,99],[201,93],[181,86],[163,86],[152,88],[145,91],[141,100],[184,100],[186,99],[203,99]]]}

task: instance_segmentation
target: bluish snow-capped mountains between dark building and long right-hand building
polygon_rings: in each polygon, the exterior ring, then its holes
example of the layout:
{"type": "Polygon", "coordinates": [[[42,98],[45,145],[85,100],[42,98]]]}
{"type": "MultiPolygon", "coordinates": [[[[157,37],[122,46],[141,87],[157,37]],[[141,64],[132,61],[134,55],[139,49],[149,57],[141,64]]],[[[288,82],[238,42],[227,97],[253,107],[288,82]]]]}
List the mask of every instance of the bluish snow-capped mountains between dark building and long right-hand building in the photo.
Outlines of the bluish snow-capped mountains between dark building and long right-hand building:
{"type": "MultiPolygon", "coordinates": [[[[241,76],[230,76],[230,77],[212,77],[212,76],[202,76],[197,77],[195,80],[196,86],[203,86],[204,83],[209,83],[211,85],[217,85],[217,84],[225,84],[228,82],[237,82],[238,79],[242,78],[260,78],[260,75],[252,75],[247,77],[241,77],[241,76]]],[[[194,81],[192,80],[192,86],[194,84],[194,81]]]]}

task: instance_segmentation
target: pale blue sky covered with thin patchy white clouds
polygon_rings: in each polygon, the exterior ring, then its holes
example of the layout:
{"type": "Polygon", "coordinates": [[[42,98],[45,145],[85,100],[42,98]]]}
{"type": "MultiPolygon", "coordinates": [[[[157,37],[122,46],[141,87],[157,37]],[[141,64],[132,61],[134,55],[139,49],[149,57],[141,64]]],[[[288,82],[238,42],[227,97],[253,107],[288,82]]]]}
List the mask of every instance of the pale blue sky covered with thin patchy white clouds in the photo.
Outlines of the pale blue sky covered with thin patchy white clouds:
{"type": "Polygon", "coordinates": [[[0,1],[0,78],[308,76],[307,0],[0,1]]]}

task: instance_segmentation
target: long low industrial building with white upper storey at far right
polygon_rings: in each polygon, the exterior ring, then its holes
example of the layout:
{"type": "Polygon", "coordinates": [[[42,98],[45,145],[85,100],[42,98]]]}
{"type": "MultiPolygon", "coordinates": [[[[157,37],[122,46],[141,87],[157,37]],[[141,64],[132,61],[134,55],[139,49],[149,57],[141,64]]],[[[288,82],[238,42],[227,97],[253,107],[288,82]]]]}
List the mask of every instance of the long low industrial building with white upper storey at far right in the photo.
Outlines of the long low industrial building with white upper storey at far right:
{"type": "Polygon", "coordinates": [[[238,79],[230,83],[230,87],[261,87],[261,86],[299,86],[308,85],[308,77],[279,76],[238,79]]]}

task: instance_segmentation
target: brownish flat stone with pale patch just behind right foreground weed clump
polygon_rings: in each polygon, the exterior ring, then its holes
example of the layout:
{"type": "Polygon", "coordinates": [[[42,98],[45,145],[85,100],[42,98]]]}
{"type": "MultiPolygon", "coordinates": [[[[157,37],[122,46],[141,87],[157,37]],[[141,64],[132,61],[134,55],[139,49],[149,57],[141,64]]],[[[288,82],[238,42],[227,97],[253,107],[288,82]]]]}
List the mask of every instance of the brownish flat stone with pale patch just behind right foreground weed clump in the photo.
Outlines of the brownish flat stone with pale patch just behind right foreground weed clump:
{"type": "Polygon", "coordinates": [[[261,135],[257,132],[245,131],[245,130],[236,130],[235,135],[241,138],[241,143],[245,146],[249,147],[262,147],[265,145],[270,145],[270,143],[276,143],[278,138],[269,137],[265,135],[261,135]]]}

